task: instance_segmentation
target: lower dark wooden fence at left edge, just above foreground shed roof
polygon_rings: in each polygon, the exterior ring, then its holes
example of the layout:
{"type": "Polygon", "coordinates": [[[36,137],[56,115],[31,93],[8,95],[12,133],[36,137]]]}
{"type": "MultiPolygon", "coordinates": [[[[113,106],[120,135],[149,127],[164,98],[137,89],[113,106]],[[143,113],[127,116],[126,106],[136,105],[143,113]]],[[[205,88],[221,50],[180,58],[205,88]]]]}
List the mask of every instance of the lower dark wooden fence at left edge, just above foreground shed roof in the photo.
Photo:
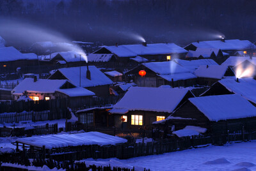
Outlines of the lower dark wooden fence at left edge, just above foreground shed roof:
{"type": "Polygon", "coordinates": [[[29,126],[26,128],[0,128],[0,137],[42,135],[47,133],[58,133],[58,123],[40,126],[29,126]]]}

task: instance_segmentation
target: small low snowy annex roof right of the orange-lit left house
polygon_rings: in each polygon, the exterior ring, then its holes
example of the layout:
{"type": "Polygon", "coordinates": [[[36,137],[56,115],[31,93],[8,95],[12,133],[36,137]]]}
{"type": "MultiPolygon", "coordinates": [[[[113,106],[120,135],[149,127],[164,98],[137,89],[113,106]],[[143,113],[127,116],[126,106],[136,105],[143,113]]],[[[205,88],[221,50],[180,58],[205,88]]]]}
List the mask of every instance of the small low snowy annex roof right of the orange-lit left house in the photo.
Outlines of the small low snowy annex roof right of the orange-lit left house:
{"type": "Polygon", "coordinates": [[[89,91],[88,89],[84,89],[83,87],[74,87],[71,89],[58,89],[57,91],[66,94],[70,97],[95,96],[95,93],[89,91]]]}

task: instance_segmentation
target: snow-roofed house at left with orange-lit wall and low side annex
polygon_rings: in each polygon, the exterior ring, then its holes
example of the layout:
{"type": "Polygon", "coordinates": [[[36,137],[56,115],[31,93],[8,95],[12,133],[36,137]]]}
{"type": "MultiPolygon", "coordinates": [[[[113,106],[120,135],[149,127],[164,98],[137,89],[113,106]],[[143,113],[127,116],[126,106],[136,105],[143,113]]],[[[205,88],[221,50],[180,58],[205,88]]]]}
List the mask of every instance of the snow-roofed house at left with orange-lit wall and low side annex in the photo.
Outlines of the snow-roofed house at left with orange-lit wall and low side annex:
{"type": "Polygon", "coordinates": [[[13,90],[14,100],[26,94],[32,100],[51,100],[56,98],[67,98],[69,107],[82,107],[88,98],[95,95],[82,87],[70,83],[68,80],[49,80],[25,78],[13,90]]]}

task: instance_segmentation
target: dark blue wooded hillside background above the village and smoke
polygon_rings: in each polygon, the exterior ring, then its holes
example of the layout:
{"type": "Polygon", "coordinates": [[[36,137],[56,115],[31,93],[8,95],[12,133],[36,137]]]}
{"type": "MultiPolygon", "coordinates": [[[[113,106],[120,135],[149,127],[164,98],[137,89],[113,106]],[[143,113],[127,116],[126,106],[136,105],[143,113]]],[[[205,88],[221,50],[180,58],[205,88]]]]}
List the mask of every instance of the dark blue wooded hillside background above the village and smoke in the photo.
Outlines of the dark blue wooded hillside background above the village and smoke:
{"type": "Polygon", "coordinates": [[[255,6],[252,0],[0,0],[0,15],[77,41],[138,43],[130,34],[136,33],[148,42],[186,45],[220,34],[255,41],[255,6]]]}

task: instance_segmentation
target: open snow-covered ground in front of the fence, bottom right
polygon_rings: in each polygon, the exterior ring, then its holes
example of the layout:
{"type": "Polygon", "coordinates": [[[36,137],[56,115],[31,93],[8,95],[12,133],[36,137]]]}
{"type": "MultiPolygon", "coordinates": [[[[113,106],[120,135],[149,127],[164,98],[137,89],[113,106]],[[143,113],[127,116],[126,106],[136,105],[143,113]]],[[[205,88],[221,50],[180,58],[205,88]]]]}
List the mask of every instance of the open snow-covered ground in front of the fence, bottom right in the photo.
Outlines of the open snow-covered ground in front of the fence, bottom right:
{"type": "MultiPolygon", "coordinates": [[[[86,161],[86,160],[85,160],[86,161]]],[[[99,163],[100,160],[97,160],[99,163]]],[[[128,160],[108,159],[102,161],[122,162],[137,168],[150,170],[256,170],[256,140],[169,152],[154,156],[130,158],[128,160]]],[[[88,162],[93,163],[92,159],[88,162]]]]}

